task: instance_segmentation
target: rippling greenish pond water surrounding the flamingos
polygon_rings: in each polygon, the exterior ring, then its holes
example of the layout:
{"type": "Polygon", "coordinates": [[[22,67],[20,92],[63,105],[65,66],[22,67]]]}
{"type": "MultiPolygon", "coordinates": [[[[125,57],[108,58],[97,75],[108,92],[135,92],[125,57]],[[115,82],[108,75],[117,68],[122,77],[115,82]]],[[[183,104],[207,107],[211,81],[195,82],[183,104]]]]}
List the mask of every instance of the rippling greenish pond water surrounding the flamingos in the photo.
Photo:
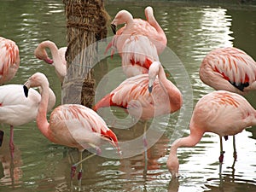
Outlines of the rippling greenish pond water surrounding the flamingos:
{"type": "MultiPolygon", "coordinates": [[[[128,9],[134,16],[144,19],[143,9],[148,3],[111,3],[108,1],[108,14],[114,16],[119,9],[128,9]]],[[[232,46],[244,49],[256,58],[255,9],[180,6],[178,3],[150,2],[156,20],[166,32],[168,47],[178,55],[189,73],[194,90],[192,102],[212,91],[201,83],[198,69],[202,58],[209,50],[232,46]]],[[[36,71],[44,72],[49,84],[55,90],[57,101],[61,102],[61,84],[52,67],[38,61],[33,50],[44,40],[52,40],[58,46],[67,46],[64,5],[59,0],[49,1],[1,1],[0,34],[14,39],[20,46],[20,69],[12,80],[13,84],[24,83],[36,71]]],[[[108,35],[111,35],[109,28],[108,35]]],[[[160,58],[161,60],[161,58],[160,58]]],[[[172,60],[170,60],[171,62],[172,60]]],[[[105,66],[96,68],[96,79],[106,71],[120,66],[119,58],[108,59],[105,66]]],[[[172,72],[172,71],[171,71],[172,72]]],[[[171,74],[172,75],[172,74],[171,74]]],[[[179,74],[177,74],[179,75],[179,74]]],[[[107,83],[107,82],[106,82],[107,83]]],[[[112,88],[110,88],[112,90],[112,88]]],[[[254,94],[248,100],[256,106],[254,94]]],[[[57,103],[58,104],[58,103],[57,103]]],[[[186,109],[186,106],[184,107],[186,109]]],[[[117,111],[122,118],[122,113],[117,111]]],[[[189,121],[189,119],[188,119],[189,121]]],[[[119,128],[118,124],[113,127],[119,128]]],[[[119,137],[127,139],[143,135],[140,122],[136,128],[117,130],[119,137]]],[[[178,152],[182,177],[172,180],[166,169],[166,159],[170,148],[173,127],[177,116],[168,123],[163,137],[148,149],[148,171],[144,172],[144,154],[126,159],[107,159],[96,156],[84,162],[83,191],[256,191],[255,181],[255,128],[237,135],[238,159],[234,169],[231,139],[224,142],[225,158],[222,165],[220,185],[218,155],[219,138],[206,134],[195,148],[181,148],[178,152]],[[249,132],[251,131],[251,132],[249,132]]],[[[184,134],[189,131],[184,130],[184,134]]],[[[8,137],[8,133],[5,135],[8,137]]],[[[7,144],[8,145],[8,144],[7,144]]],[[[69,191],[70,166],[78,160],[78,151],[49,143],[38,131],[35,123],[15,130],[15,160],[10,161],[9,147],[0,148],[1,191],[9,192],[15,187],[20,191],[69,191]],[[19,134],[16,134],[16,133],[19,134]],[[19,137],[20,136],[20,137],[19,137]],[[22,160],[21,152],[22,151],[22,160]],[[17,153],[16,153],[17,152],[17,153]],[[73,156],[73,158],[71,158],[73,156]],[[72,160],[73,159],[73,160],[72,160]],[[12,167],[10,169],[9,167],[12,167]],[[3,177],[4,174],[4,177],[3,177]],[[13,175],[13,176],[12,176],[13,175]]],[[[143,148],[142,148],[143,149],[143,148]]],[[[84,156],[88,152],[84,152],[84,156]]]]}

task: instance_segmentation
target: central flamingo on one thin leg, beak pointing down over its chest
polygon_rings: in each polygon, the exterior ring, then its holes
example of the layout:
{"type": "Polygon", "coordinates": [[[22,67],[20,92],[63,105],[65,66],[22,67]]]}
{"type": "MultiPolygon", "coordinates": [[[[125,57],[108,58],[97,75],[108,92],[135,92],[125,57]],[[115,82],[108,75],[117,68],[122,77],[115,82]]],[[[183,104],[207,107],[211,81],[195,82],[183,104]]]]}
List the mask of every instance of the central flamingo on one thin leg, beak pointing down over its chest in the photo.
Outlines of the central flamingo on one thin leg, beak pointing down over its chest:
{"type": "MultiPolygon", "coordinates": [[[[160,61],[154,61],[149,67],[148,74],[140,74],[125,79],[117,88],[104,96],[93,107],[99,108],[116,106],[129,110],[137,119],[145,121],[143,147],[147,161],[146,122],[155,116],[174,113],[182,106],[180,90],[166,79],[166,73],[160,61]]],[[[146,166],[145,166],[146,167],[146,166]]]]}

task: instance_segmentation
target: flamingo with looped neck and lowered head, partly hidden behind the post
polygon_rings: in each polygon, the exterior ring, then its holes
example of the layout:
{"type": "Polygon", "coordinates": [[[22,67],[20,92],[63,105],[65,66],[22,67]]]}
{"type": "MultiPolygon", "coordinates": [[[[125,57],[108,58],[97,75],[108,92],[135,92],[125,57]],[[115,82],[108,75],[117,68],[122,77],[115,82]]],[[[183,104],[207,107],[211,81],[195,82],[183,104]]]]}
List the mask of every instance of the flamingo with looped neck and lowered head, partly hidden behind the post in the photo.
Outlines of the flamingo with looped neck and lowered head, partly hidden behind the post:
{"type": "Polygon", "coordinates": [[[43,41],[38,44],[38,47],[34,51],[34,55],[40,59],[44,60],[46,63],[49,63],[55,67],[55,73],[60,79],[61,84],[63,83],[64,77],[67,74],[67,61],[66,61],[66,54],[67,47],[61,47],[60,49],[57,48],[56,44],[52,41],[43,41]],[[52,59],[49,58],[46,48],[49,48],[52,59]]]}

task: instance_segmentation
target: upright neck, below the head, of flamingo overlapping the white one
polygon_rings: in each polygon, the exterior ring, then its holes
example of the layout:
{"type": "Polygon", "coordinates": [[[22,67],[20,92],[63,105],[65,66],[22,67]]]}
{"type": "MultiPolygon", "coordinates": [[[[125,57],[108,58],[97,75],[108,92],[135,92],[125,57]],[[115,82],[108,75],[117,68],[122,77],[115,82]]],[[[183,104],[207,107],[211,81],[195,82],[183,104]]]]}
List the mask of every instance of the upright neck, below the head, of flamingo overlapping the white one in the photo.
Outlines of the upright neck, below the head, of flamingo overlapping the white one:
{"type": "Polygon", "coordinates": [[[43,82],[41,84],[41,102],[38,106],[37,125],[38,129],[43,133],[44,137],[49,137],[49,122],[47,120],[47,106],[49,102],[49,83],[43,82]]]}

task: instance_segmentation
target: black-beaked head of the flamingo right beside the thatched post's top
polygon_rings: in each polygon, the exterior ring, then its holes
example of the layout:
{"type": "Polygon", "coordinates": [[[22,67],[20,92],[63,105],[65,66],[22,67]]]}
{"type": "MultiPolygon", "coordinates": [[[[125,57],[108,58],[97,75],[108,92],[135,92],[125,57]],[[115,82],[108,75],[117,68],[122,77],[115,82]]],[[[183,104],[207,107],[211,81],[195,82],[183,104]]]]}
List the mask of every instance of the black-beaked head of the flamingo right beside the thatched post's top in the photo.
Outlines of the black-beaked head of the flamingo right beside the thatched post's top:
{"type": "Polygon", "coordinates": [[[133,16],[126,10],[120,10],[111,22],[113,34],[116,34],[116,27],[121,24],[129,24],[133,20],[133,16]]]}

